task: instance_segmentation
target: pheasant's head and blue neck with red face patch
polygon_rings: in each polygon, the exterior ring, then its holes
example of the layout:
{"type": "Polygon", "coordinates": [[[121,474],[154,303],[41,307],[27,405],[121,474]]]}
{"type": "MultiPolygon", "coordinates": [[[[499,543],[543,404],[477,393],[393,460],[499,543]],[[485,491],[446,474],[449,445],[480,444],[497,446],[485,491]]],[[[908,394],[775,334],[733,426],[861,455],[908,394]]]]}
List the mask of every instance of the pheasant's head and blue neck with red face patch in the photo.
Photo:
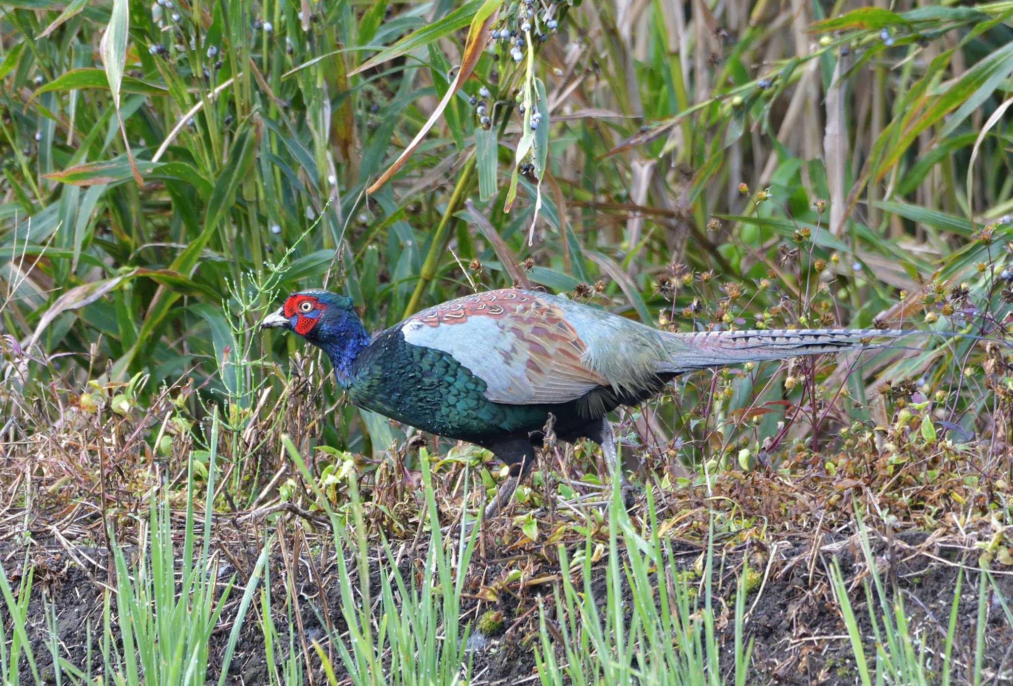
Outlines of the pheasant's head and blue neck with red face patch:
{"type": "Polygon", "coordinates": [[[322,348],[342,381],[359,351],[370,341],[352,298],[329,291],[293,293],[260,321],[260,328],[270,326],[295,331],[322,348]]]}

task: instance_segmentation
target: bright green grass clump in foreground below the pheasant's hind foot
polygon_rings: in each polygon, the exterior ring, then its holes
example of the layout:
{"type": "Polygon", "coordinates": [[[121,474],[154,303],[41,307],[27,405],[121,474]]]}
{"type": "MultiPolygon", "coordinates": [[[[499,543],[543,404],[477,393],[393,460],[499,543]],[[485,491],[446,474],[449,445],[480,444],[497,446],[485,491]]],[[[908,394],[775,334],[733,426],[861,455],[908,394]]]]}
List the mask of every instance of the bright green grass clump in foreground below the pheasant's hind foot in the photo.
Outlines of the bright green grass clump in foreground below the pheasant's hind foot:
{"type": "Polygon", "coordinates": [[[562,590],[555,594],[554,608],[558,637],[553,639],[543,608],[541,651],[536,653],[543,685],[703,685],[728,683],[728,677],[735,686],[747,683],[753,640],[744,644],[746,575],[739,577],[735,592],[734,667],[724,674],[714,627],[713,524],[703,575],[697,580],[677,571],[671,540],[657,535],[649,492],[647,512],[648,529],[637,531],[619,496],[614,496],[604,599],[595,591],[591,538],[572,560],[560,548],[562,590]],[[571,576],[578,577],[580,585],[574,585],[571,576]],[[557,651],[565,658],[562,666],[557,651]]]}

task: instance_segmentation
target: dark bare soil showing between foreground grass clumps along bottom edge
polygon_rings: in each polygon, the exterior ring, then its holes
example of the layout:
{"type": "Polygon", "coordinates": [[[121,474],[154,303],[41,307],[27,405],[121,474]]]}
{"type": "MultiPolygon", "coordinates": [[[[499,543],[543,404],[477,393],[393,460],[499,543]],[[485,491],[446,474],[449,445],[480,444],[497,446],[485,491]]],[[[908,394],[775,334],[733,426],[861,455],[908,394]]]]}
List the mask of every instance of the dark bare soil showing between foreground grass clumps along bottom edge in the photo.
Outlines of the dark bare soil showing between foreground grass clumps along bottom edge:
{"type": "MultiPolygon", "coordinates": [[[[881,536],[876,537],[875,534],[872,536],[880,577],[887,588],[892,588],[892,584],[895,583],[895,588],[900,590],[905,610],[911,618],[910,633],[924,641],[926,662],[935,674],[938,674],[942,664],[943,639],[949,622],[957,574],[961,564],[968,567],[964,573],[957,615],[951,683],[969,682],[975,655],[980,580],[976,568],[977,555],[980,551],[941,544],[918,532],[906,532],[889,540],[881,536]]],[[[763,553],[760,559],[766,558],[768,561],[761,569],[766,581],[762,584],[762,588],[751,593],[747,600],[747,609],[750,610],[746,623],[747,638],[752,637],[756,641],[749,683],[801,685],[854,684],[858,681],[847,629],[830,587],[829,574],[834,558],[840,563],[849,587],[853,589],[851,601],[866,639],[866,660],[870,669],[874,669],[873,627],[869,620],[861,581],[868,580],[869,577],[857,541],[857,537],[838,534],[825,536],[813,543],[811,536],[805,536],[804,539],[799,537],[797,541],[782,538],[769,550],[754,545],[752,548],[729,546],[716,552],[712,592],[715,597],[714,612],[719,640],[723,646],[722,672],[730,675],[733,667],[733,606],[736,579],[742,571],[744,558],[756,560],[758,552],[763,553]]],[[[424,542],[416,549],[424,549],[424,542]]],[[[73,551],[74,557],[83,562],[83,565],[74,561],[67,549],[54,541],[36,541],[27,550],[10,542],[0,548],[4,570],[12,586],[16,587],[20,579],[26,554],[34,566],[28,632],[40,671],[48,678],[52,678],[53,675],[52,657],[47,642],[48,606],[55,608],[56,628],[62,656],[71,664],[85,668],[90,635],[93,643],[91,673],[93,675],[102,673],[98,637],[101,635],[102,626],[104,597],[102,584],[108,581],[103,568],[107,562],[106,552],[102,548],[93,547],[80,547],[73,551]],[[88,560],[93,560],[97,566],[88,560]]],[[[675,544],[675,566],[681,569],[689,568],[701,551],[702,548],[694,544],[675,544]]],[[[211,673],[216,680],[232,628],[232,619],[235,617],[238,601],[242,595],[241,586],[245,576],[253,567],[253,560],[256,559],[258,550],[253,547],[246,550],[237,549],[231,545],[230,553],[232,558],[236,561],[242,560],[240,564],[248,564],[248,567],[240,570],[237,579],[239,588],[233,590],[228,607],[223,613],[223,621],[211,638],[211,673]]],[[[321,559],[320,554],[327,555],[326,546],[323,553],[314,555],[314,564],[309,564],[308,558],[304,555],[302,563],[295,565],[298,571],[296,578],[292,580],[299,599],[303,630],[310,643],[314,639],[325,643],[326,627],[320,621],[320,618],[325,616],[325,607],[326,615],[333,624],[333,630],[338,634],[343,634],[345,630],[343,619],[337,610],[340,607],[339,585],[335,578],[337,565],[333,563],[332,555],[329,559],[321,559]],[[314,566],[320,570],[324,580],[322,595],[313,580],[314,566]]],[[[371,558],[376,560],[377,556],[371,555],[371,558]]],[[[509,568],[517,560],[516,555],[511,556],[510,553],[503,552],[497,556],[493,548],[486,548],[484,561],[478,556],[473,561],[471,579],[466,586],[471,591],[484,588],[497,578],[501,569],[509,568]]],[[[220,577],[221,584],[224,585],[235,569],[225,556],[220,556],[219,561],[226,573],[220,577]]],[[[598,565],[602,580],[604,580],[605,561],[601,560],[598,565]]],[[[527,563],[530,564],[530,561],[527,563]]],[[[401,564],[402,573],[406,575],[411,573],[412,565],[411,555],[405,554],[401,564]]],[[[349,568],[354,569],[355,565],[349,564],[349,568]]],[[[527,579],[547,577],[558,571],[558,567],[553,566],[550,559],[543,558],[540,568],[529,568],[528,571],[531,574],[526,575],[527,579]]],[[[280,554],[271,556],[269,573],[274,587],[271,594],[275,605],[274,619],[282,633],[282,645],[277,659],[282,661],[288,657],[289,637],[287,595],[284,588],[287,579],[286,566],[280,554]]],[[[1003,595],[1006,598],[1013,596],[1013,581],[1009,570],[999,566],[994,574],[1003,595]]],[[[372,577],[372,591],[379,593],[380,579],[375,569],[372,577]]],[[[358,584],[358,581],[354,583],[358,584]]],[[[594,588],[597,591],[603,586],[604,584],[599,582],[594,588]]],[[[535,674],[535,661],[531,649],[538,643],[538,613],[535,610],[537,597],[551,596],[556,588],[555,582],[519,584],[512,589],[513,594],[499,594],[498,600],[494,602],[479,601],[477,594],[469,593],[462,610],[463,620],[470,622],[473,633],[477,617],[490,608],[503,612],[505,627],[505,631],[499,635],[472,638],[474,641],[472,644],[476,646],[470,654],[473,684],[515,684],[530,679],[535,674]]],[[[604,590],[601,594],[604,601],[604,590]]],[[[873,603],[874,607],[878,607],[874,598],[873,603]]],[[[112,606],[114,609],[114,603],[112,606]]],[[[547,603],[546,607],[552,607],[552,603],[547,603]]],[[[244,622],[239,644],[229,668],[228,683],[267,682],[263,636],[257,622],[258,608],[258,603],[254,603],[244,622]]],[[[998,597],[989,599],[987,610],[984,677],[1002,682],[1009,679],[1013,673],[1013,662],[1010,660],[1010,653],[1013,651],[1013,629],[1004,616],[998,597]]],[[[3,613],[4,629],[9,637],[10,618],[6,616],[5,610],[3,613]]],[[[550,618],[550,626],[552,621],[550,618]]],[[[881,621],[879,630],[882,630],[881,621]]],[[[295,645],[296,650],[301,652],[302,642],[298,636],[295,637],[295,645]]],[[[326,683],[323,674],[319,672],[319,661],[312,654],[312,645],[309,651],[310,664],[317,670],[314,674],[316,683],[326,683]]],[[[562,657],[560,662],[564,662],[562,657]]],[[[339,679],[345,676],[336,655],[333,666],[339,679]]],[[[24,683],[30,683],[30,673],[23,663],[21,676],[24,683]]]]}

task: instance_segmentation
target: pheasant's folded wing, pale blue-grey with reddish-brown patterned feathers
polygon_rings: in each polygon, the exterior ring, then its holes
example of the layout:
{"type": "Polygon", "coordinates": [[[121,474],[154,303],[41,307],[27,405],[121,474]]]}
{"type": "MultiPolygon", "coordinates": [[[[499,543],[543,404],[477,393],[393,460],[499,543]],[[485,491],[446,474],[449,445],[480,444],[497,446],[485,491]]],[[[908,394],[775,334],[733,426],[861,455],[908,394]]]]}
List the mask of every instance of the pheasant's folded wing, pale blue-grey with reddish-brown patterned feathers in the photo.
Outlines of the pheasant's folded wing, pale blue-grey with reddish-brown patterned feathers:
{"type": "Polygon", "coordinates": [[[493,402],[567,402],[610,381],[560,300],[513,289],[478,293],[409,317],[401,332],[468,368],[493,402]]]}

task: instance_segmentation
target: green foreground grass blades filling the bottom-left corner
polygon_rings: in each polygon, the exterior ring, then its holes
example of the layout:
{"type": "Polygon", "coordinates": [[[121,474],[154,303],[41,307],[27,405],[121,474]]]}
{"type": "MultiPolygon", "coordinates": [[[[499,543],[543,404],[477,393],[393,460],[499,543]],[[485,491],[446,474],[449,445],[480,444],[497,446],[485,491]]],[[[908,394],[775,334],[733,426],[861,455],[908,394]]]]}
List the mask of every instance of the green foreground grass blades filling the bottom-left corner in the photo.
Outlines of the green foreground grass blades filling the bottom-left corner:
{"type": "MultiPolygon", "coordinates": [[[[214,473],[219,438],[219,423],[214,416],[211,427],[211,458],[209,470],[214,473]]],[[[212,632],[225,621],[222,611],[229,603],[236,573],[223,585],[217,556],[211,554],[211,498],[213,477],[209,481],[205,504],[205,524],[201,536],[194,526],[192,470],[188,472],[185,524],[182,546],[174,543],[179,533],[172,525],[169,499],[166,493],[153,493],[149,519],[143,522],[137,546],[130,548],[112,544],[114,592],[106,590],[102,601],[100,633],[96,636],[87,627],[87,657],[82,665],[73,664],[62,654],[57,633],[56,608],[45,603],[45,617],[31,617],[34,630],[41,634],[52,658],[52,673],[41,674],[36,667],[27,626],[28,603],[31,595],[32,569],[25,564],[16,597],[6,573],[0,568],[0,592],[3,593],[6,616],[0,623],[0,682],[19,683],[22,658],[30,670],[31,683],[94,683],[98,672],[96,661],[106,675],[107,683],[118,686],[160,684],[184,686],[208,683],[211,678],[210,650],[212,632]],[[133,558],[133,561],[130,561],[133,558]],[[8,643],[7,623],[12,628],[8,643]],[[96,637],[96,642],[91,638],[96,637]],[[95,647],[98,651],[95,651],[95,647]]],[[[234,614],[229,619],[232,629],[224,655],[216,668],[218,684],[225,684],[229,666],[246,619],[256,597],[257,588],[267,560],[269,545],[264,546],[243,589],[234,614]]]]}

